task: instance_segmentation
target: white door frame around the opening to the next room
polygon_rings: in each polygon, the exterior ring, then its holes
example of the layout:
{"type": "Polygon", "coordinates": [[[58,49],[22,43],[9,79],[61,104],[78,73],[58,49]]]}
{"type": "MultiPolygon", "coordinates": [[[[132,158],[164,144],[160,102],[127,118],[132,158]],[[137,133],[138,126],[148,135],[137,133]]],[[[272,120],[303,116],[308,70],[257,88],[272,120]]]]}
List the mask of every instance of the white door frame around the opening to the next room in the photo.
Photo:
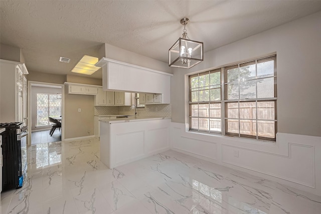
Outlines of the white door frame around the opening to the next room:
{"type": "Polygon", "coordinates": [[[31,90],[32,86],[43,86],[43,87],[60,87],[61,88],[61,141],[65,140],[65,85],[56,84],[56,83],[46,83],[46,82],[37,82],[37,81],[28,81],[28,129],[30,133],[27,138],[27,145],[31,145],[31,124],[32,124],[32,103],[31,103],[31,90]]]}

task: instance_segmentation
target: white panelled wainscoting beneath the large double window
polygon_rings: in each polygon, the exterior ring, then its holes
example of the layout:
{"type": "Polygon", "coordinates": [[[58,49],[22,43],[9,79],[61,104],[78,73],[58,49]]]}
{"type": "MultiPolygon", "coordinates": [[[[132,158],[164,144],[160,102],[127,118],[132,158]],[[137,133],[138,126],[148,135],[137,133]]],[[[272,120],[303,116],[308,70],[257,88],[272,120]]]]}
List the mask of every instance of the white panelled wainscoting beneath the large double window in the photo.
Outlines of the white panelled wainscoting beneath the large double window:
{"type": "Polygon", "coordinates": [[[173,150],[321,195],[321,137],[277,133],[276,142],[266,142],[193,133],[187,127],[171,123],[173,150]]]}

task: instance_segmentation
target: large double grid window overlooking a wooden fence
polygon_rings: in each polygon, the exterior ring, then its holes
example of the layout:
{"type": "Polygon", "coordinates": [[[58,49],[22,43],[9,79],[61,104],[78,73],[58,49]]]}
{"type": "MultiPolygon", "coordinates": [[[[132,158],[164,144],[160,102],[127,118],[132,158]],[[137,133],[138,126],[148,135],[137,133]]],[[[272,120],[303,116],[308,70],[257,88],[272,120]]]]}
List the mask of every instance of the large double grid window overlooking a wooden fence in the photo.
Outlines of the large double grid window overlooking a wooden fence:
{"type": "Polygon", "coordinates": [[[190,75],[189,80],[190,130],[275,140],[276,56],[190,75]]]}

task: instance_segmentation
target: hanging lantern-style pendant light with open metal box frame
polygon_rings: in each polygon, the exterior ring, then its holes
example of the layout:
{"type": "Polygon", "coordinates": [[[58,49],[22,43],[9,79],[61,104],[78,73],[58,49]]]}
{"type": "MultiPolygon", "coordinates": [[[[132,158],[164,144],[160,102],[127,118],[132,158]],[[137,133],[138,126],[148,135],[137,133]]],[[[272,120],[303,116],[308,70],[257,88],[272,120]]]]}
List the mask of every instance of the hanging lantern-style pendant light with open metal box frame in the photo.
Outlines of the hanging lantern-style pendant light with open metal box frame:
{"type": "Polygon", "coordinates": [[[203,61],[203,42],[190,40],[187,36],[185,27],[189,23],[188,18],[183,18],[180,22],[184,25],[183,35],[169,50],[169,66],[192,68],[203,61]]]}

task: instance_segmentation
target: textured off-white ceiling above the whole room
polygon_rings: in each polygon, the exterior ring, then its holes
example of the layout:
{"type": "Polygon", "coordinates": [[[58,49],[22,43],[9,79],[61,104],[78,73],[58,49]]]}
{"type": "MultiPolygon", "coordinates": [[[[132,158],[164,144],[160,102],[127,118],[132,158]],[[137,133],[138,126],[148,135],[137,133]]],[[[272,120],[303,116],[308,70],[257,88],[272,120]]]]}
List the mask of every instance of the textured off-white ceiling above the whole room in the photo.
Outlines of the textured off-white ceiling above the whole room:
{"type": "Polygon", "coordinates": [[[1,0],[0,7],[1,43],[21,48],[30,72],[74,75],[81,57],[98,56],[103,43],[168,63],[184,17],[189,38],[207,52],[321,11],[321,1],[1,0]]]}

